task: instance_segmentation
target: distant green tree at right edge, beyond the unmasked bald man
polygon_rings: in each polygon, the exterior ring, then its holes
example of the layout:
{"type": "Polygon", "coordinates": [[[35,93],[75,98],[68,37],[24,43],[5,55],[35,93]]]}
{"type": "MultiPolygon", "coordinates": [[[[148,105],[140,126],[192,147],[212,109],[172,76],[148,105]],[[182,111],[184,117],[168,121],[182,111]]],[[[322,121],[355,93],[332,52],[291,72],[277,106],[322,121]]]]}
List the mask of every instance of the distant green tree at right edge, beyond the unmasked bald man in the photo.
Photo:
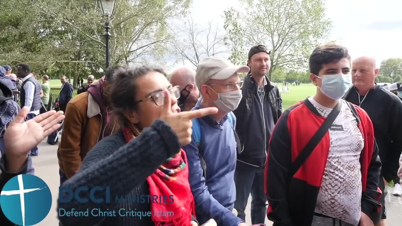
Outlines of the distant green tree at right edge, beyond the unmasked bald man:
{"type": "Polygon", "coordinates": [[[402,82],[402,58],[383,60],[379,69],[379,76],[383,79],[389,77],[391,82],[402,82]]]}

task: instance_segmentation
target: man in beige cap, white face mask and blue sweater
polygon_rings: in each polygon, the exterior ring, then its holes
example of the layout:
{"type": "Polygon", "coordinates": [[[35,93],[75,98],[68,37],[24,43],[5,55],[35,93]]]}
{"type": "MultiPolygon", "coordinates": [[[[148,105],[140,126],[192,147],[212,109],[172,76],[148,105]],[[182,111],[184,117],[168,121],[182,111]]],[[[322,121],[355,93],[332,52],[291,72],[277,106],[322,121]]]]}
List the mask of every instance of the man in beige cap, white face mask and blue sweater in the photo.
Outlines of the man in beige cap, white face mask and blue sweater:
{"type": "Polygon", "coordinates": [[[240,88],[243,82],[238,73],[249,70],[248,66],[235,66],[217,57],[205,58],[197,67],[195,84],[201,97],[193,110],[219,109],[215,115],[193,120],[192,141],[183,147],[189,162],[189,181],[200,224],[212,218],[220,226],[246,225],[232,214],[236,199],[236,148],[240,150],[240,145],[236,145],[236,117],[232,111],[242,99],[240,88]]]}

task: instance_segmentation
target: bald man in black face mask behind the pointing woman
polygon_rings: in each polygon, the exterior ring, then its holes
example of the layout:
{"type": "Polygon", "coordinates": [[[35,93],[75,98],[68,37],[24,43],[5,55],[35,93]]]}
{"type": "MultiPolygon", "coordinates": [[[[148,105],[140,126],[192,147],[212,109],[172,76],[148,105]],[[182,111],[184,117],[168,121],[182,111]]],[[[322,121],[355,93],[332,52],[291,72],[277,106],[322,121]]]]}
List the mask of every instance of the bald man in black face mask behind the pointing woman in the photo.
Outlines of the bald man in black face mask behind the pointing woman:
{"type": "Polygon", "coordinates": [[[172,72],[169,81],[173,86],[180,86],[178,104],[181,111],[191,111],[200,96],[200,91],[195,85],[195,71],[187,67],[178,68],[172,72]]]}

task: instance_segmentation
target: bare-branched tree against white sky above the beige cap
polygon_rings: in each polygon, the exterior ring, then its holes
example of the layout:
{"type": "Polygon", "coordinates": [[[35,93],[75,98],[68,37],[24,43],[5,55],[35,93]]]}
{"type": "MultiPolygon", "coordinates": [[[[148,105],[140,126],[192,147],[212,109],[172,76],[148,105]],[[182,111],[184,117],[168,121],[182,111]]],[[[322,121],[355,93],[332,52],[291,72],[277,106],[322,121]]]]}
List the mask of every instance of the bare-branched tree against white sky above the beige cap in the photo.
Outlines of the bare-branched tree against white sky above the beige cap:
{"type": "Polygon", "coordinates": [[[219,56],[228,52],[224,46],[224,34],[218,25],[208,22],[206,26],[194,23],[191,15],[186,16],[184,24],[179,23],[175,29],[179,32],[172,41],[173,55],[176,55],[185,64],[189,61],[195,67],[209,56],[219,56]]]}

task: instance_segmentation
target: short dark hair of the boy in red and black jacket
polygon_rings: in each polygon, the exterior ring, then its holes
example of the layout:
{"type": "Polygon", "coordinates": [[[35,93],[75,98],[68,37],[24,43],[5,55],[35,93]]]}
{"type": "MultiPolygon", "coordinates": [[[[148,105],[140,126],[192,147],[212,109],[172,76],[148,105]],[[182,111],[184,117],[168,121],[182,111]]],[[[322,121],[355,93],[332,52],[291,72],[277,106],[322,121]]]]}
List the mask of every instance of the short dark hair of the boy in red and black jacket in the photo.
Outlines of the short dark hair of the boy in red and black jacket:
{"type": "Polygon", "coordinates": [[[318,76],[323,64],[336,63],[343,58],[347,58],[349,63],[351,62],[348,49],[342,45],[327,44],[317,46],[310,55],[310,73],[318,76]]]}

